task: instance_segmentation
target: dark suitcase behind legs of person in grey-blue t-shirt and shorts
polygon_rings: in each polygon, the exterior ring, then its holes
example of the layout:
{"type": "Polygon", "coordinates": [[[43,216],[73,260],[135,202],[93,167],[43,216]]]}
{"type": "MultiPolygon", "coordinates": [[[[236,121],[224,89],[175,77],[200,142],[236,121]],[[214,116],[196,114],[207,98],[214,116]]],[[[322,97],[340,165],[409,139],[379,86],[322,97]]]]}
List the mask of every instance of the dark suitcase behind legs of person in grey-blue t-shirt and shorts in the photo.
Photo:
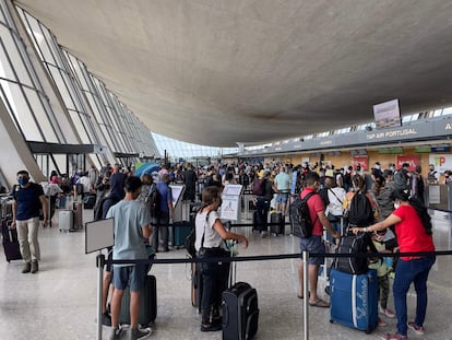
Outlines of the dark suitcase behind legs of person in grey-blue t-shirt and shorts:
{"type": "MultiPolygon", "coordinates": [[[[154,275],[147,275],[144,289],[140,293],[140,316],[139,324],[147,327],[157,317],[157,281],[154,275]]],[[[130,325],[130,290],[127,288],[121,300],[121,312],[119,324],[130,325]]]]}

